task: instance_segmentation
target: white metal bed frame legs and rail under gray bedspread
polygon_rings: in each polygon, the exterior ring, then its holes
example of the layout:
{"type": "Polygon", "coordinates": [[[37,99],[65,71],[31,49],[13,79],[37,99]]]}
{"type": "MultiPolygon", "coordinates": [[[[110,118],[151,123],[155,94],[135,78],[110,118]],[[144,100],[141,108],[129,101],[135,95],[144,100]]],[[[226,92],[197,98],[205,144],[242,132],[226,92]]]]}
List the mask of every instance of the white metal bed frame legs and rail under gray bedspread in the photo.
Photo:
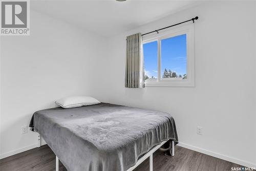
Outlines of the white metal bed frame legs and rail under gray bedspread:
{"type": "MultiPolygon", "coordinates": [[[[38,147],[40,147],[41,146],[41,136],[38,134],[38,147]]],[[[126,171],[132,171],[133,169],[135,169],[138,165],[140,165],[144,160],[146,160],[148,157],[150,157],[150,171],[153,171],[153,153],[155,152],[155,151],[157,151],[157,149],[158,148],[160,148],[165,142],[167,142],[168,140],[166,140],[166,141],[163,141],[161,144],[159,144],[159,145],[157,145],[157,146],[155,146],[155,147],[153,147],[149,152],[147,152],[144,156],[142,156],[137,162],[136,162],[136,164],[134,165],[134,166],[132,166],[132,167],[130,167],[129,169],[127,169],[126,171]]],[[[175,144],[174,144],[174,141],[172,141],[172,153],[171,153],[171,155],[172,156],[174,156],[174,146],[175,146],[175,144]]],[[[56,162],[55,162],[55,164],[56,164],[56,171],[59,171],[59,158],[58,158],[58,156],[57,155],[55,155],[56,156],[56,162]]]]}

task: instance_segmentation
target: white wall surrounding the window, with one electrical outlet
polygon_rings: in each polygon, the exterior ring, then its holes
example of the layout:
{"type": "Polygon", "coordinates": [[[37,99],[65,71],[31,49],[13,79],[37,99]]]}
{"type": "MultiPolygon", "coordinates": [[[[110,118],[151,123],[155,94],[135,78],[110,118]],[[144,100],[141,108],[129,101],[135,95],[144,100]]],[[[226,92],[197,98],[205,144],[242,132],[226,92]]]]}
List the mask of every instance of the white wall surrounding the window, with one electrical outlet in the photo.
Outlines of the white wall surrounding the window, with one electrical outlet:
{"type": "Polygon", "coordinates": [[[226,1],[117,35],[109,43],[109,102],[172,113],[180,145],[256,167],[255,29],[255,2],[226,1]],[[125,37],[195,16],[196,86],[125,89],[125,37]]]}

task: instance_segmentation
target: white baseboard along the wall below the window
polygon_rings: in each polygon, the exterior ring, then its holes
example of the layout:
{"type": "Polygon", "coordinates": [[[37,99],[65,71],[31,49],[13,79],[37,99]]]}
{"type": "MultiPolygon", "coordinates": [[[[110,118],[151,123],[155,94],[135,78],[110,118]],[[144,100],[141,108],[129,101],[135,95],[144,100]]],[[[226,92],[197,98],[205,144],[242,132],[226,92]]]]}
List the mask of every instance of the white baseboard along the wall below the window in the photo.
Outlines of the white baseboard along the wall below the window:
{"type": "Polygon", "coordinates": [[[226,161],[229,161],[229,162],[232,162],[232,163],[240,164],[240,165],[245,166],[245,167],[254,167],[254,168],[256,168],[256,164],[253,164],[253,163],[250,163],[250,162],[247,162],[247,161],[243,161],[243,160],[240,160],[240,159],[228,157],[228,156],[225,156],[225,155],[222,155],[222,154],[219,154],[219,153],[211,152],[211,151],[208,151],[207,149],[203,149],[203,148],[199,148],[199,147],[196,147],[196,146],[188,145],[188,144],[185,144],[185,143],[182,143],[182,142],[179,142],[177,145],[181,146],[181,147],[184,147],[184,148],[191,149],[191,150],[196,151],[196,152],[200,152],[200,153],[212,156],[212,157],[216,157],[216,158],[226,160],[226,161]]]}

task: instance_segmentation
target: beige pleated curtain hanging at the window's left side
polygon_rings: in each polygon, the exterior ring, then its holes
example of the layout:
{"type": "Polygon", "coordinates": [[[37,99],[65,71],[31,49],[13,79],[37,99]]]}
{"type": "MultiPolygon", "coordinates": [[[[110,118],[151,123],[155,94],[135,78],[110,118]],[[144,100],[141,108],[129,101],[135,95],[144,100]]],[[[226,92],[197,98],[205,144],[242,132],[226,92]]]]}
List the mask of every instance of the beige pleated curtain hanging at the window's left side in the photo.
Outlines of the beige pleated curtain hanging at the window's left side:
{"type": "Polygon", "coordinates": [[[126,37],[125,87],[145,87],[141,33],[133,34],[126,37]]]}

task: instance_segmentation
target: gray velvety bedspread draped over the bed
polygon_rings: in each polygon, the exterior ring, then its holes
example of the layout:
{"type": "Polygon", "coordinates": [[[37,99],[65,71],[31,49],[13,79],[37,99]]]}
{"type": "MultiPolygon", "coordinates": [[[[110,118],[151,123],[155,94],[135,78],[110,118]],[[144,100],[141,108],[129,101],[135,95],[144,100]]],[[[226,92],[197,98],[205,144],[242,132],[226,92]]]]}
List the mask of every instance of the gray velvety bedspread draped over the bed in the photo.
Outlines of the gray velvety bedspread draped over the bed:
{"type": "Polygon", "coordinates": [[[178,137],[168,113],[100,103],[34,113],[30,126],[68,170],[126,170],[152,147],[178,137]]]}

